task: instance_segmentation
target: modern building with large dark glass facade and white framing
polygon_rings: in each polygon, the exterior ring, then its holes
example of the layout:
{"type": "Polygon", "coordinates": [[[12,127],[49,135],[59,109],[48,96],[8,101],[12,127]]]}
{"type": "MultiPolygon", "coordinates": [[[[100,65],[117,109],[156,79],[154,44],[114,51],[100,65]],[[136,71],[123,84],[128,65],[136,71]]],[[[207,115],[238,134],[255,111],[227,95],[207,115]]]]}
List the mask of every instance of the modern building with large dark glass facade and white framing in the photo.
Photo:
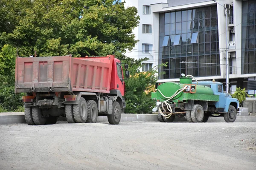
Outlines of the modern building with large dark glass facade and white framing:
{"type": "MultiPolygon", "coordinates": [[[[155,52],[151,59],[154,65],[168,63],[167,67],[160,68],[165,74],[159,77],[159,82],[178,81],[184,73],[198,80],[215,79],[225,85],[228,40],[229,91],[241,87],[254,95],[256,0],[216,2],[219,4],[212,0],[167,0],[151,4],[150,42],[155,52]],[[228,26],[224,6],[228,8],[228,26]]],[[[143,41],[143,37],[138,39],[143,41]]]]}

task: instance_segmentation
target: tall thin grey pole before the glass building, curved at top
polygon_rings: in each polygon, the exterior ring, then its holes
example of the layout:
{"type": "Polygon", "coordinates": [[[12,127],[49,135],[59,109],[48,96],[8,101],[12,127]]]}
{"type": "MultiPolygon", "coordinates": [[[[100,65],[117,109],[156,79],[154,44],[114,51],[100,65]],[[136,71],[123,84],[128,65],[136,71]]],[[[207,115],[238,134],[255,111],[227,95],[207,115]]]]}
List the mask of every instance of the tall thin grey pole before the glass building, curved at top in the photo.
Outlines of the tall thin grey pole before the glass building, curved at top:
{"type": "MultiPolygon", "coordinates": [[[[215,3],[216,0],[212,0],[214,1],[215,3]]],[[[221,5],[220,3],[218,3],[220,6],[223,6],[221,5]]],[[[225,6],[224,7],[224,10],[225,10],[225,13],[226,13],[226,93],[228,94],[228,91],[229,91],[229,61],[228,61],[228,11],[227,11],[227,8],[225,6]]]]}

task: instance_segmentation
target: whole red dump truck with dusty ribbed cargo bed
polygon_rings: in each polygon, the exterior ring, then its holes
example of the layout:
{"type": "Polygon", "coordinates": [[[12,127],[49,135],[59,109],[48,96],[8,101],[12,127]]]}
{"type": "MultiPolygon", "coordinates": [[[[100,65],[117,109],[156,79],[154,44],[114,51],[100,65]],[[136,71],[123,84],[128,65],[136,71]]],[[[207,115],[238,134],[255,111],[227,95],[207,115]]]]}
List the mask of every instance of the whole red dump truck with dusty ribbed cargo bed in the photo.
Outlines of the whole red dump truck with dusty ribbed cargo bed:
{"type": "Polygon", "coordinates": [[[108,116],[116,125],[125,108],[122,66],[113,55],[18,57],[15,93],[22,92],[29,125],[55,124],[59,116],[68,123],[95,123],[98,116],[108,116]]]}

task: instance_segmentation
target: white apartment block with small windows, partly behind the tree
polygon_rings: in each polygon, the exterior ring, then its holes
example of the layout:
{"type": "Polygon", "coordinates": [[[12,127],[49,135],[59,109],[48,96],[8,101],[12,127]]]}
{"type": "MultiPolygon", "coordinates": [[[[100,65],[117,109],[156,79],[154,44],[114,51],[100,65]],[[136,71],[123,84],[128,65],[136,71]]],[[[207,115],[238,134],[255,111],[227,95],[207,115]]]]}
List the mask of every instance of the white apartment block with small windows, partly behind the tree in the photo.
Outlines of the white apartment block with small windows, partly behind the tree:
{"type": "Polygon", "coordinates": [[[142,59],[147,57],[149,60],[144,62],[141,71],[148,71],[155,65],[158,65],[158,51],[154,50],[155,45],[153,35],[158,34],[152,29],[152,11],[151,4],[167,3],[167,0],[125,0],[125,7],[135,6],[138,9],[140,23],[137,28],[134,28],[133,34],[135,40],[139,42],[135,45],[132,51],[127,51],[125,55],[134,59],[142,59]]]}

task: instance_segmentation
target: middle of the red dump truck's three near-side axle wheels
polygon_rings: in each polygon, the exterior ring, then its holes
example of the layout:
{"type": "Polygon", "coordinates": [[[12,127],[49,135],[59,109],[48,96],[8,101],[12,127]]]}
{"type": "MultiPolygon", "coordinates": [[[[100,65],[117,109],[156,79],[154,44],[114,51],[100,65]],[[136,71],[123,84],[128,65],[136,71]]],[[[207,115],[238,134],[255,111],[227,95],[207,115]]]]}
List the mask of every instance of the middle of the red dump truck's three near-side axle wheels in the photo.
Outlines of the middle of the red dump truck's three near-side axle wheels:
{"type": "Polygon", "coordinates": [[[89,123],[96,123],[98,119],[98,107],[94,100],[87,101],[87,121],[89,123]]]}

